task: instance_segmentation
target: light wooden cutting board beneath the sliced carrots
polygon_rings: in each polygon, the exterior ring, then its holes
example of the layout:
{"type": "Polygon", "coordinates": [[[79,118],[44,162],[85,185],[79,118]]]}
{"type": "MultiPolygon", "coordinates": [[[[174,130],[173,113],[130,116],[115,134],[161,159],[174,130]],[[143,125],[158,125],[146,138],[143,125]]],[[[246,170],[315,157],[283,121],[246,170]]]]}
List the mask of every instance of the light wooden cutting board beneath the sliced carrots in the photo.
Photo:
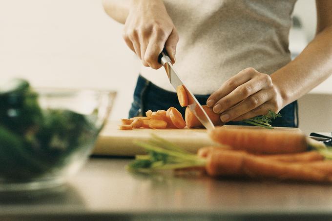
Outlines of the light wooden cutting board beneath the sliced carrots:
{"type": "MultiPolygon", "coordinates": [[[[197,150],[204,146],[216,145],[207,135],[206,129],[133,129],[119,130],[120,121],[108,121],[101,131],[97,143],[95,145],[94,155],[108,156],[135,156],[136,154],[144,154],[143,148],[136,146],[133,141],[147,141],[150,139],[151,133],[171,141],[183,147],[187,151],[196,153],[197,150]]],[[[225,125],[229,128],[250,127],[257,130],[267,130],[256,126],[234,126],[225,125]]],[[[274,130],[287,130],[300,132],[299,128],[275,127],[274,130]]]]}

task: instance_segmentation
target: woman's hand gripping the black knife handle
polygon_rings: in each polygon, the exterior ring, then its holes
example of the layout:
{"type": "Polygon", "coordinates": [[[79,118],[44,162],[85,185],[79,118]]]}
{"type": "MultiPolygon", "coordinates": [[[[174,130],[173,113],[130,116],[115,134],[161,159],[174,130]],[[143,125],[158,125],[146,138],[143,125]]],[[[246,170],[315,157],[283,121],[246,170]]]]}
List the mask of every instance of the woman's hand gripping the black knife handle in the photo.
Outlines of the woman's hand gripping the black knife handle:
{"type": "Polygon", "coordinates": [[[123,37],[144,66],[160,68],[158,56],[164,47],[175,62],[179,36],[163,0],[131,0],[123,37]]]}

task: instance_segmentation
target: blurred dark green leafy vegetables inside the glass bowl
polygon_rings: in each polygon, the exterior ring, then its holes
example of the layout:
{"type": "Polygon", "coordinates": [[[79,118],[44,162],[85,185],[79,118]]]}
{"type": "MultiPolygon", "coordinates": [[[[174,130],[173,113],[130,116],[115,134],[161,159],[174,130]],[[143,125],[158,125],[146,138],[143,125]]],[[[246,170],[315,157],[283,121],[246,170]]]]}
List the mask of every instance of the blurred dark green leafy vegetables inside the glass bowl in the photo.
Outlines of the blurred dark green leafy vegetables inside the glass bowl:
{"type": "Polygon", "coordinates": [[[26,80],[0,86],[0,181],[61,173],[72,158],[88,154],[99,131],[88,116],[42,110],[26,80]]]}

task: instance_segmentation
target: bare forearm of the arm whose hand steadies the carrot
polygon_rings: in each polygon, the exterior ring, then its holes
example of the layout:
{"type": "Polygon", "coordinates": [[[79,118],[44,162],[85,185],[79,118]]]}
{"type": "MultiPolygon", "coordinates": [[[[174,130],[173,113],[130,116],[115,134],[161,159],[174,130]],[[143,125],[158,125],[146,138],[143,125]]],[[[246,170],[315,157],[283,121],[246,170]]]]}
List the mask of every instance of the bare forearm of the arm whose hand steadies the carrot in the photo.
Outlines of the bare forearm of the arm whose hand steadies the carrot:
{"type": "Polygon", "coordinates": [[[283,68],[271,75],[284,105],[297,100],[332,74],[332,26],[325,28],[283,68]]]}

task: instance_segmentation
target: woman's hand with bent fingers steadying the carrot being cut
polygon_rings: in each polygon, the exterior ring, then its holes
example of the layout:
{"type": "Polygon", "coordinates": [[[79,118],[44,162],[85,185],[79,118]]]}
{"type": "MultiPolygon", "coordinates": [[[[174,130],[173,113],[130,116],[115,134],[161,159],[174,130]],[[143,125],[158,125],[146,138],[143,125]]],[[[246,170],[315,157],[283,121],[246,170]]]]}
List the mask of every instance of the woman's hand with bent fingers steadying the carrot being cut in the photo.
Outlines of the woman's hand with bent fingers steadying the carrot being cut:
{"type": "Polygon", "coordinates": [[[207,106],[220,115],[223,122],[242,121],[269,110],[278,113],[284,104],[271,77],[247,68],[227,80],[207,99],[207,106]]]}

